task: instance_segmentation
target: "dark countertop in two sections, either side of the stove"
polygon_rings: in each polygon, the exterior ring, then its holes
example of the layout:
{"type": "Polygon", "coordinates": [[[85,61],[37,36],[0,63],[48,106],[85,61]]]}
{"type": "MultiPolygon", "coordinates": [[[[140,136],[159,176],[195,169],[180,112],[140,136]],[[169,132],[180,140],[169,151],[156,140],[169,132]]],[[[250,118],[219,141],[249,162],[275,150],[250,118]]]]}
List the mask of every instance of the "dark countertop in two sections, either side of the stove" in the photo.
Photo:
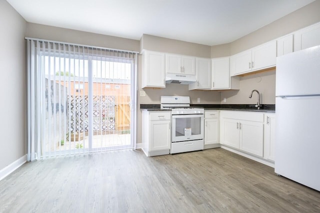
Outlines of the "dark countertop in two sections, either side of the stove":
{"type": "MultiPolygon", "coordinates": [[[[252,104],[190,104],[193,107],[203,107],[204,110],[231,110],[246,112],[267,112],[275,113],[274,104],[263,104],[262,109],[256,109],[252,104]]],[[[170,109],[160,109],[160,104],[140,104],[143,111],[171,111],[170,109]]]]}

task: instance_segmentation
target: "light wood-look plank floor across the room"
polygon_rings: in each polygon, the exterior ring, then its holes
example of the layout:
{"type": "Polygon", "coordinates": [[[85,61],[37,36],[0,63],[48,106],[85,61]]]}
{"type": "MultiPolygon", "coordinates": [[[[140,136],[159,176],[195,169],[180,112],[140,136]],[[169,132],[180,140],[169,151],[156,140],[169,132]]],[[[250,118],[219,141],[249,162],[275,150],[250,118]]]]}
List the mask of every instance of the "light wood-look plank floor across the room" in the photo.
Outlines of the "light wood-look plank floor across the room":
{"type": "Polygon", "coordinates": [[[320,193],[221,148],[145,157],[141,150],[24,164],[0,181],[0,213],[310,213],[320,193]]]}

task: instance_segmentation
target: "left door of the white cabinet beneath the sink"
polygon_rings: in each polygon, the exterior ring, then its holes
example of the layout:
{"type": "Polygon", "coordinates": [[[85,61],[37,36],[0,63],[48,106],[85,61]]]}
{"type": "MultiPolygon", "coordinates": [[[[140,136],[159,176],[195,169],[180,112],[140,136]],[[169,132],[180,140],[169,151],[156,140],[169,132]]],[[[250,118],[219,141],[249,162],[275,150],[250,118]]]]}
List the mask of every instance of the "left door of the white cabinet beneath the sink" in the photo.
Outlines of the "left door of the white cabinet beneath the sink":
{"type": "Polygon", "coordinates": [[[223,118],[221,120],[221,143],[239,149],[239,122],[234,119],[223,118]]]}

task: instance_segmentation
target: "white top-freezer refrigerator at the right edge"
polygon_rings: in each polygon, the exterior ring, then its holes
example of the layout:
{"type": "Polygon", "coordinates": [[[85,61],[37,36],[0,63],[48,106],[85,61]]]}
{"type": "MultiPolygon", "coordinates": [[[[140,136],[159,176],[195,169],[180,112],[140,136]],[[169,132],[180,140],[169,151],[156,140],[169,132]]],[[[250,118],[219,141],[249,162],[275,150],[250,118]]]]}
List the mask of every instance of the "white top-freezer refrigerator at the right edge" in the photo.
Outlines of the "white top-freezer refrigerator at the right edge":
{"type": "Polygon", "coordinates": [[[274,172],[320,191],[320,46],[276,59],[274,172]]]}

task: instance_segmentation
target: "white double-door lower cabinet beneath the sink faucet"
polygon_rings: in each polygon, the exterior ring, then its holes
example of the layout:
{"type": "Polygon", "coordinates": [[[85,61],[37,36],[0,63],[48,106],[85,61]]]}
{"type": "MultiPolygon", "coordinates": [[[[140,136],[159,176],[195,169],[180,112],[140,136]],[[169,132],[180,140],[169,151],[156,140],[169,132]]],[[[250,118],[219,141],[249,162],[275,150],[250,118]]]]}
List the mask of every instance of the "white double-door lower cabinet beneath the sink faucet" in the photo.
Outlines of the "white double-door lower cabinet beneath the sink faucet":
{"type": "Polygon", "coordinates": [[[220,144],[263,157],[263,113],[221,111],[220,144]]]}

